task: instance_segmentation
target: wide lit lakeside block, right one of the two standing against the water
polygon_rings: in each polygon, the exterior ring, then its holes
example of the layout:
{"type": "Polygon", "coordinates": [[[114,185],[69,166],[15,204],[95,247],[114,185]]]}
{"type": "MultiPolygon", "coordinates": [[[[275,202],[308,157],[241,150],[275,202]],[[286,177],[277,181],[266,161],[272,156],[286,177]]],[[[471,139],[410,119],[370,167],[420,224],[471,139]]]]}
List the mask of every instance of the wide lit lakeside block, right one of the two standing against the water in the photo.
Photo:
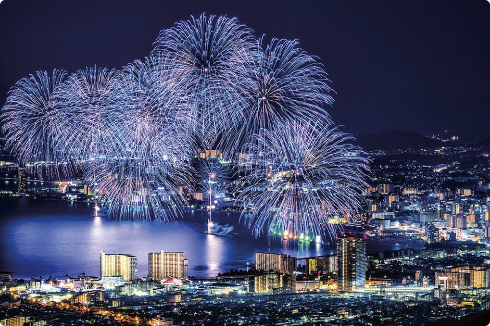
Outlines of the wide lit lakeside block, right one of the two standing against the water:
{"type": "Polygon", "coordinates": [[[166,277],[188,278],[187,259],[184,253],[148,253],[148,277],[161,280],[166,277]]]}

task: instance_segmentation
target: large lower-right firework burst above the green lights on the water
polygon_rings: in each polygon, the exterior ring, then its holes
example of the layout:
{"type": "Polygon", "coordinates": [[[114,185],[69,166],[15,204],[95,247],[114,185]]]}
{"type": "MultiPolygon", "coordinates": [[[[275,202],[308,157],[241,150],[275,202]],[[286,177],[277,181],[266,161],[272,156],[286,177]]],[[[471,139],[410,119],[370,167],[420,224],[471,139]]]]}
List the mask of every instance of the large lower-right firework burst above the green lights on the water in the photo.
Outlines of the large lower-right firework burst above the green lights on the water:
{"type": "Polygon", "coordinates": [[[242,218],[254,234],[335,237],[339,225],[330,219],[352,216],[365,187],[367,161],[353,138],[333,123],[295,123],[255,138],[238,198],[253,209],[242,218]]]}

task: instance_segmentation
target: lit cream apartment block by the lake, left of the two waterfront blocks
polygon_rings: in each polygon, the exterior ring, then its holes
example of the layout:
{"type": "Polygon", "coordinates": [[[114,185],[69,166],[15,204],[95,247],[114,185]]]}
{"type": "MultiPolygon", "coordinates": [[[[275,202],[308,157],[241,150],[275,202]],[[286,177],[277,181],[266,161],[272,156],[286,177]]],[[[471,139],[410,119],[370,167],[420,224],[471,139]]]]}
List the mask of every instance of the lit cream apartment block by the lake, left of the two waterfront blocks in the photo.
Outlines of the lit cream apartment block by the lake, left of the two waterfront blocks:
{"type": "Polygon", "coordinates": [[[138,274],[138,259],[131,255],[107,255],[101,253],[101,278],[122,276],[125,282],[135,281],[138,274]]]}

